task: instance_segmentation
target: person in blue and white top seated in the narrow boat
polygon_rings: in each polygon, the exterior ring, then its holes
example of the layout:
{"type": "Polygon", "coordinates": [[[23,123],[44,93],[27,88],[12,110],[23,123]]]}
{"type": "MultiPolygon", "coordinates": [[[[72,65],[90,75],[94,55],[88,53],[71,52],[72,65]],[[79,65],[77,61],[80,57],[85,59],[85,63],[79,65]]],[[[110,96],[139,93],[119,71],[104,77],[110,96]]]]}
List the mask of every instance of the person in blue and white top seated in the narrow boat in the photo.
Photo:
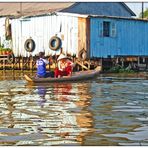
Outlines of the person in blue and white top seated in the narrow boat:
{"type": "Polygon", "coordinates": [[[47,78],[47,77],[54,77],[54,72],[46,71],[46,65],[51,64],[48,60],[44,59],[45,53],[44,52],[39,52],[39,59],[36,62],[37,65],[37,73],[36,76],[39,78],[47,78]]]}

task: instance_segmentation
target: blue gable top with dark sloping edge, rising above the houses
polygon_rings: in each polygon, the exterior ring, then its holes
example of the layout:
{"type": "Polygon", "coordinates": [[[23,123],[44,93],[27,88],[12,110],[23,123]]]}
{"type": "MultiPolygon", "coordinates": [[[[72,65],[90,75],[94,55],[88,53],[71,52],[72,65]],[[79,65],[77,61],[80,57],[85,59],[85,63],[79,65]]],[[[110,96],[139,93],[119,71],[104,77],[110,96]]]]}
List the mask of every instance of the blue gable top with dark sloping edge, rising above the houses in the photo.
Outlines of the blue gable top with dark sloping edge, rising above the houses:
{"type": "Polygon", "coordinates": [[[124,2],[76,2],[72,6],[62,9],[61,12],[120,17],[135,16],[124,2]]]}

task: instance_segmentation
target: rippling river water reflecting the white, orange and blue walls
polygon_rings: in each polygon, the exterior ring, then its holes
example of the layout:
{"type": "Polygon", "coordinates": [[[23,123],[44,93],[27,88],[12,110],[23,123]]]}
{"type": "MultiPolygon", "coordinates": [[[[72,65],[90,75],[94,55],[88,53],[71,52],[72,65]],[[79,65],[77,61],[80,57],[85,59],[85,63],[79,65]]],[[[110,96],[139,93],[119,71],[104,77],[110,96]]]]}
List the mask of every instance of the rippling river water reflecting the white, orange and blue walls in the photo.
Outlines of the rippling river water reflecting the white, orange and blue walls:
{"type": "Polygon", "coordinates": [[[0,77],[0,146],[148,145],[148,80],[101,75],[31,85],[0,77]]]}

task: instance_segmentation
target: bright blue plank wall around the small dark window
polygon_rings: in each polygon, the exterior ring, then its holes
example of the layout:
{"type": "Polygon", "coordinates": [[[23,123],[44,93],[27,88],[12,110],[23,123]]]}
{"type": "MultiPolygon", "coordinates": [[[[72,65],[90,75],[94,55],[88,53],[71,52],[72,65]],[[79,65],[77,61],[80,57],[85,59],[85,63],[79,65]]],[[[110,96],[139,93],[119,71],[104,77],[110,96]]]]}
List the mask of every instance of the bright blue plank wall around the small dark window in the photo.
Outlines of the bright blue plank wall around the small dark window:
{"type": "Polygon", "coordinates": [[[147,21],[91,18],[90,30],[91,57],[148,56],[147,21]],[[110,22],[110,37],[103,37],[103,21],[110,22]]]}

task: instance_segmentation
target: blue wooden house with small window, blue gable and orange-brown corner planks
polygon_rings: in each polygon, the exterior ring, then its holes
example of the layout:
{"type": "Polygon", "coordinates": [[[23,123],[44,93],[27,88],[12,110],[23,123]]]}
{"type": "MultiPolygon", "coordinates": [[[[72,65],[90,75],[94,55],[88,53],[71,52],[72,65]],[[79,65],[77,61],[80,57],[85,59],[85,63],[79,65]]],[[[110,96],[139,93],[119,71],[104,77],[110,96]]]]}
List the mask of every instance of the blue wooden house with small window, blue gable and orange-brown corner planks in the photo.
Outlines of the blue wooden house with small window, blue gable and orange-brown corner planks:
{"type": "Polygon", "coordinates": [[[75,3],[62,12],[88,15],[79,17],[78,50],[85,49],[90,59],[148,57],[148,21],[133,18],[125,3],[75,3]]]}

